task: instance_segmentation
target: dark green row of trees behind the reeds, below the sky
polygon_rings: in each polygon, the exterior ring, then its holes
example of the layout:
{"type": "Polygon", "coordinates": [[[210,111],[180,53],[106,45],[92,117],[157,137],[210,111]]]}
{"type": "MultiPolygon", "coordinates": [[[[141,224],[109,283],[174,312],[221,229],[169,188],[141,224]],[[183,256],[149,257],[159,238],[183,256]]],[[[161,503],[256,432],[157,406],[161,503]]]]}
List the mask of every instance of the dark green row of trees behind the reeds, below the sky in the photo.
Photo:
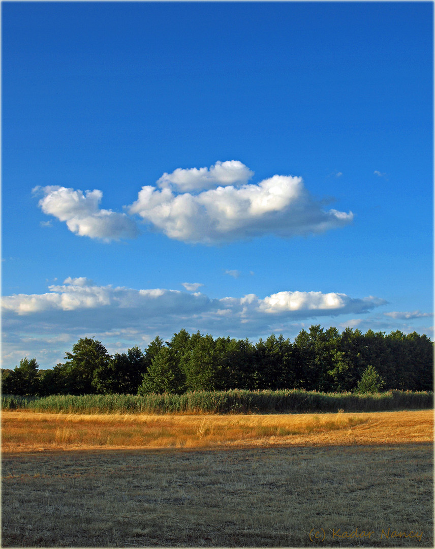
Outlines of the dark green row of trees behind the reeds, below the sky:
{"type": "Polygon", "coordinates": [[[250,340],[182,329],[170,341],[157,336],[144,350],[110,355],[101,341],[81,338],[65,362],[39,369],[23,358],[2,369],[2,393],[148,394],[195,390],[305,389],[343,392],[367,386],[433,390],[433,343],[427,335],[358,329],[302,329],[293,343],[283,335],[250,340]]]}

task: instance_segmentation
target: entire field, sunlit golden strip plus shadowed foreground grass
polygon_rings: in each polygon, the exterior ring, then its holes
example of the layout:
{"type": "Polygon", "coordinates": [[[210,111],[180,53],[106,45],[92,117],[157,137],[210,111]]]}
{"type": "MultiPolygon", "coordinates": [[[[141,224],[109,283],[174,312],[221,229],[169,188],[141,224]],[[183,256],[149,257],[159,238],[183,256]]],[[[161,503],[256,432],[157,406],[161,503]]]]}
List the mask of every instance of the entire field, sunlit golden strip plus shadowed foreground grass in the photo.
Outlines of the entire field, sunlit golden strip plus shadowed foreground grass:
{"type": "Polygon", "coordinates": [[[433,411],[2,413],[2,546],[433,546],[433,411]]]}

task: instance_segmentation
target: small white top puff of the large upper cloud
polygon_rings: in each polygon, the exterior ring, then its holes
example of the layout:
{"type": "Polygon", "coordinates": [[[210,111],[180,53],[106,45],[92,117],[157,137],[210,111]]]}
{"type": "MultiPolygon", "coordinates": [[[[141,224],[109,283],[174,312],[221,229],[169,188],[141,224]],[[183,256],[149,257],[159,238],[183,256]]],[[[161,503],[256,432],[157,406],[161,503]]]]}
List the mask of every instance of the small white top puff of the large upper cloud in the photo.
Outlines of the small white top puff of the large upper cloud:
{"type": "Polygon", "coordinates": [[[247,183],[252,176],[253,172],[239,160],[217,161],[210,168],[177,168],[172,173],[165,172],[157,181],[157,186],[185,193],[218,186],[241,185],[247,183]]]}

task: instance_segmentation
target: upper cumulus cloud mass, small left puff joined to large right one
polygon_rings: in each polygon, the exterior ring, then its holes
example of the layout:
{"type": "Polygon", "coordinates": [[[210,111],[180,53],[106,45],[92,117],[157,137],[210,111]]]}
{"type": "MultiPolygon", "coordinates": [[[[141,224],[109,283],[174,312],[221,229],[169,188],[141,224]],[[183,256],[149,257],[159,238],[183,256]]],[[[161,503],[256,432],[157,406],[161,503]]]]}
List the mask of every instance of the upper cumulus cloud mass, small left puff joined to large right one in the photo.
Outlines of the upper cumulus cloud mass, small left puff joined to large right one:
{"type": "Polygon", "coordinates": [[[65,221],[80,236],[106,241],[137,236],[133,216],[167,237],[188,243],[218,244],[264,234],[280,237],[316,234],[342,227],[352,212],[325,210],[304,187],[301,177],[274,175],[248,183],[253,172],[239,160],[163,173],[156,185],[145,185],[127,213],[99,208],[98,189],[77,191],[47,186],[39,206],[65,221]]]}

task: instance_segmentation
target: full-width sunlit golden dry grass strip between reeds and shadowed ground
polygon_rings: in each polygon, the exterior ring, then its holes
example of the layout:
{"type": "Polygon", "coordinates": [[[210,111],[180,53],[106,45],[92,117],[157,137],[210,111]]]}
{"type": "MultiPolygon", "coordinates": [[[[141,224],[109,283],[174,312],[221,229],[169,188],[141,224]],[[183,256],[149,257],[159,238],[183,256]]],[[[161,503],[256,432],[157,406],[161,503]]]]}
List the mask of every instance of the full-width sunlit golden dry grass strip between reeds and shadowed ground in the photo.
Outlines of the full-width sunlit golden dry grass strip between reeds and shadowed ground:
{"type": "Polygon", "coordinates": [[[433,441],[433,411],[146,416],[2,412],[2,451],[433,441]]]}

